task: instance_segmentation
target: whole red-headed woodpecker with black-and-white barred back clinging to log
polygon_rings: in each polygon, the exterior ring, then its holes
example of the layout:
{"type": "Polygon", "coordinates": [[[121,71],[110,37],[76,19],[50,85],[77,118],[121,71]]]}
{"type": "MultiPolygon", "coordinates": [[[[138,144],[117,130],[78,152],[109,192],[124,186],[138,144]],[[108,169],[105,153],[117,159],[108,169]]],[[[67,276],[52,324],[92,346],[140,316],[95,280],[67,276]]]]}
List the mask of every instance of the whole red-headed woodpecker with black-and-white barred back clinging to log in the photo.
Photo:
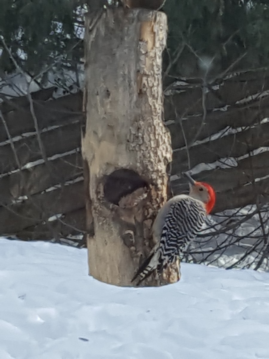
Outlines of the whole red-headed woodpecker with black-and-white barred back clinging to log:
{"type": "Polygon", "coordinates": [[[189,195],[175,196],[159,210],[152,227],[157,244],[133,278],[139,276],[138,284],[155,269],[162,272],[179,257],[202,229],[206,215],[214,207],[216,196],[213,188],[208,183],[194,181],[187,173],[185,176],[190,183],[189,195]]]}

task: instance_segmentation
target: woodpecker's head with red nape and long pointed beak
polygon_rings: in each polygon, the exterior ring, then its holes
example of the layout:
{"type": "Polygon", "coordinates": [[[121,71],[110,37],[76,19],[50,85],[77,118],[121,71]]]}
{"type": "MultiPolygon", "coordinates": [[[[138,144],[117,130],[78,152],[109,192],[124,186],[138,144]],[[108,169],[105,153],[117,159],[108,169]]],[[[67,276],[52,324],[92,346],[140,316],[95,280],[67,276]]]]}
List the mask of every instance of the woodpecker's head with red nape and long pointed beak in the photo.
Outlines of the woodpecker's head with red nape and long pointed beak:
{"type": "Polygon", "coordinates": [[[212,211],[216,202],[216,194],[213,188],[206,182],[194,181],[188,173],[184,173],[190,185],[190,196],[202,201],[206,206],[207,214],[212,211]]]}

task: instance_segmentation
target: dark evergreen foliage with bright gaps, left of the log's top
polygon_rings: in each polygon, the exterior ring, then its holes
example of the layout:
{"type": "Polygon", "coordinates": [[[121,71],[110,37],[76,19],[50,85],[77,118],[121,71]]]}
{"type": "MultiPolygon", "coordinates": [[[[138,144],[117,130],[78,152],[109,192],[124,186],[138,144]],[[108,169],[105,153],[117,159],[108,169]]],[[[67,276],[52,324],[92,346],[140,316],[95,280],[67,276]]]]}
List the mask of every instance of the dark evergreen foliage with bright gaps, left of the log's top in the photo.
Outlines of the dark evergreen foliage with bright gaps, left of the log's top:
{"type": "MultiPolygon", "coordinates": [[[[79,62],[82,5],[80,0],[0,0],[0,35],[24,71],[37,75],[53,64],[74,67],[79,62]]],[[[14,71],[1,41],[0,47],[0,69],[14,71]]]]}

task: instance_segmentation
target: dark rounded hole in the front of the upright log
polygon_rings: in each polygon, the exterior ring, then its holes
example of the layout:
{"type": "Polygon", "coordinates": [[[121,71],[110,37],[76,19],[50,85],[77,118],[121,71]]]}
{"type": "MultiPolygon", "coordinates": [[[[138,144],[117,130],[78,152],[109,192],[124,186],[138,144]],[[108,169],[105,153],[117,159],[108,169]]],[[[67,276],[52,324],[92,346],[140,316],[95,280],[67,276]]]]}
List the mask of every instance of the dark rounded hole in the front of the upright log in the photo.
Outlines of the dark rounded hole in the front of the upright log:
{"type": "Polygon", "coordinates": [[[131,169],[117,169],[105,177],[104,197],[118,205],[122,197],[144,187],[148,187],[148,184],[138,173],[131,169]]]}

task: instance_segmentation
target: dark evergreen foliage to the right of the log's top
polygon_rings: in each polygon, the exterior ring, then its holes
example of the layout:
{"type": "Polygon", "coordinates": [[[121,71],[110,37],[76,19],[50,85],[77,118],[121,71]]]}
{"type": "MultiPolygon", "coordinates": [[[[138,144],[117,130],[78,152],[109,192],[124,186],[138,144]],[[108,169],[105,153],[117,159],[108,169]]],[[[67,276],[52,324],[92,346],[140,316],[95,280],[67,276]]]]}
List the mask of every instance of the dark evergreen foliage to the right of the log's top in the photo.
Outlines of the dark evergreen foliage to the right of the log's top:
{"type": "Polygon", "coordinates": [[[170,74],[253,69],[269,62],[269,1],[167,0],[170,74]]]}

